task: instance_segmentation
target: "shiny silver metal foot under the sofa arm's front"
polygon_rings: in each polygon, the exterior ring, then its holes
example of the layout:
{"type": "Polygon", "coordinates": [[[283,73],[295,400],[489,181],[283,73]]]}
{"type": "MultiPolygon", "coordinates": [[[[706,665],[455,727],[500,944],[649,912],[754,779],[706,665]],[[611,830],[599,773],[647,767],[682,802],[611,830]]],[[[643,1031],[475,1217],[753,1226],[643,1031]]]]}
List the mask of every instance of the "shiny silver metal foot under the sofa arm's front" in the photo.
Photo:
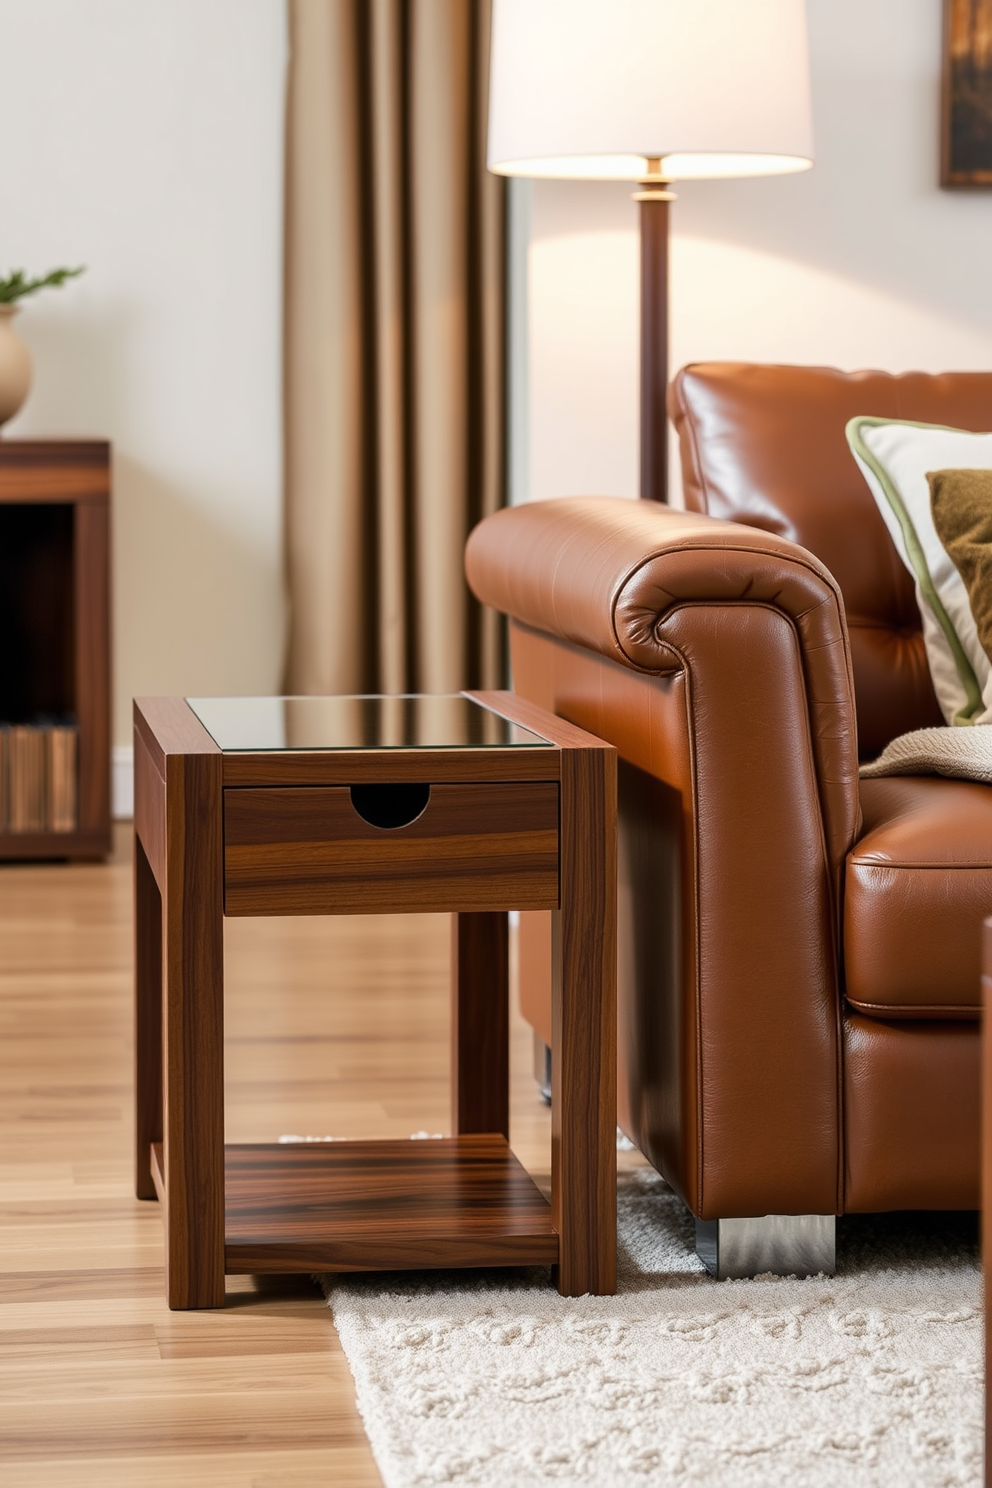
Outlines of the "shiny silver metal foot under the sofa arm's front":
{"type": "Polygon", "coordinates": [[[833,1214],[764,1214],[698,1219],[696,1254],[717,1281],[760,1277],[831,1277],[837,1265],[833,1214]]]}

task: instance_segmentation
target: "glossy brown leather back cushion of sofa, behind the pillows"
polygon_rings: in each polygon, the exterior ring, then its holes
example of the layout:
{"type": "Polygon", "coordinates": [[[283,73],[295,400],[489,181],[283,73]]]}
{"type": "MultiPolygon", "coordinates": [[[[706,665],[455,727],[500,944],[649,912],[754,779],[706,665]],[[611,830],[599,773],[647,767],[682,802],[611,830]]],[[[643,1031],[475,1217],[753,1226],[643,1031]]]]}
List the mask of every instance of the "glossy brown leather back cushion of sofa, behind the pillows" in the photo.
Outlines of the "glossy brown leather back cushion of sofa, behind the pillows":
{"type": "Polygon", "coordinates": [[[686,506],[788,537],[840,585],[861,757],[941,723],[913,583],[843,429],[855,414],[876,414],[992,430],[992,372],[892,376],[709,362],[683,368],[668,400],[686,506]]]}

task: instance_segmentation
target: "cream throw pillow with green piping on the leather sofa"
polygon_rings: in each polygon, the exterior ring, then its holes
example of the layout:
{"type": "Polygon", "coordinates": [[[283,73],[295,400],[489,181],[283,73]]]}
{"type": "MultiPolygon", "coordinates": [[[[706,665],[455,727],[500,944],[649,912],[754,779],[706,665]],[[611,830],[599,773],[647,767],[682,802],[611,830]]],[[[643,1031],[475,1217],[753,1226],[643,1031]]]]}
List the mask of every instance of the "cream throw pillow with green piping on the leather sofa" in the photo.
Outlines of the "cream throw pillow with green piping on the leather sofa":
{"type": "Polygon", "coordinates": [[[927,661],[944,719],[992,723],[992,662],[979,640],[968,591],[937,536],[927,482],[931,470],[992,470],[992,433],[852,418],[846,434],[895,549],[916,580],[927,661]]]}

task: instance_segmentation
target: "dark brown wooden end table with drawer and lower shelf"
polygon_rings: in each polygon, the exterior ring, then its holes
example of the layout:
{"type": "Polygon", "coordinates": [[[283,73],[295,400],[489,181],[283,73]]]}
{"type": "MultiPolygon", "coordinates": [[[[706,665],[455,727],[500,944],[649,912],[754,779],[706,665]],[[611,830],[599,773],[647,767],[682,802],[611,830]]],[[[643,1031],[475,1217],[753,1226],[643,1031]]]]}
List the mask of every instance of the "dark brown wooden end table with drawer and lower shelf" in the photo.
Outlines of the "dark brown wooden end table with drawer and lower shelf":
{"type": "Polygon", "coordinates": [[[225,1275],[547,1265],[616,1290],[616,751],[509,692],[135,702],[137,1193],[225,1275]],[[552,1199],[509,1146],[507,909],[552,909],[552,1199]],[[225,1147],[223,917],[455,915],[452,1137],[225,1147]]]}

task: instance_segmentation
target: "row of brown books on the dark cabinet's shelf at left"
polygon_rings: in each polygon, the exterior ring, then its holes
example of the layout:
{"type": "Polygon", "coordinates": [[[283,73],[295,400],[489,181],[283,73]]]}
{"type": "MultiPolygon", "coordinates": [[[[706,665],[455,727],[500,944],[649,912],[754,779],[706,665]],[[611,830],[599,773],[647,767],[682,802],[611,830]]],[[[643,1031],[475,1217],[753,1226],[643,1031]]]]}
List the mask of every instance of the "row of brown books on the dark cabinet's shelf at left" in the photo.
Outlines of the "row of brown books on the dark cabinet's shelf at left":
{"type": "Polygon", "coordinates": [[[77,762],[74,723],[0,725],[0,832],[74,832],[77,762]]]}

